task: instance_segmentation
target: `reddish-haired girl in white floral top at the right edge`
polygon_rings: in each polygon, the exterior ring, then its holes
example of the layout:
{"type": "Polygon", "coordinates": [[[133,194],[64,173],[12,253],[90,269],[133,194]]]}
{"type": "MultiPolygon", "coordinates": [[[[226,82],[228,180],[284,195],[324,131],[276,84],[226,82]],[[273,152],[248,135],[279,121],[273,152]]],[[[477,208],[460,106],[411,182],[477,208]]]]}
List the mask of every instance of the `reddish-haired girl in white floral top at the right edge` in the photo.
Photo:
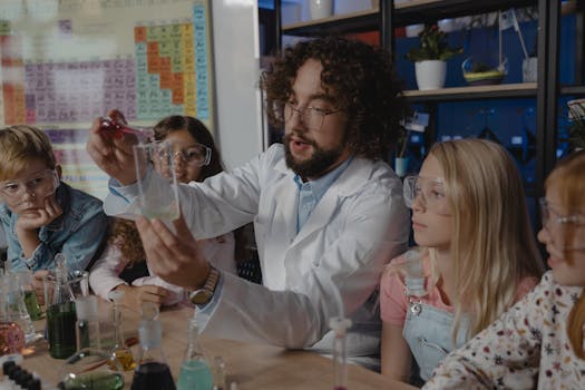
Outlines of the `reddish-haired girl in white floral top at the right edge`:
{"type": "Polygon", "coordinates": [[[545,189],[538,240],[552,271],[425,389],[585,389],[585,150],[560,162],[545,189]]]}

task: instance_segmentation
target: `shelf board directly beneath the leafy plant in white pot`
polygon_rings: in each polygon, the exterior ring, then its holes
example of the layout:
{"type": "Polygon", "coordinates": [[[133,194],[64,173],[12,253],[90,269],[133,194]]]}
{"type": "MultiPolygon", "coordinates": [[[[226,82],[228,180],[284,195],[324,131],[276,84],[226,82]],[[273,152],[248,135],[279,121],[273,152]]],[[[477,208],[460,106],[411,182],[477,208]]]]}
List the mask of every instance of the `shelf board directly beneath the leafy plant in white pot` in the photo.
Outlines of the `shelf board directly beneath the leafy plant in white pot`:
{"type": "Polygon", "coordinates": [[[435,90],[407,90],[409,103],[455,101],[471,99],[536,98],[536,84],[500,84],[497,86],[456,87],[435,90]]]}

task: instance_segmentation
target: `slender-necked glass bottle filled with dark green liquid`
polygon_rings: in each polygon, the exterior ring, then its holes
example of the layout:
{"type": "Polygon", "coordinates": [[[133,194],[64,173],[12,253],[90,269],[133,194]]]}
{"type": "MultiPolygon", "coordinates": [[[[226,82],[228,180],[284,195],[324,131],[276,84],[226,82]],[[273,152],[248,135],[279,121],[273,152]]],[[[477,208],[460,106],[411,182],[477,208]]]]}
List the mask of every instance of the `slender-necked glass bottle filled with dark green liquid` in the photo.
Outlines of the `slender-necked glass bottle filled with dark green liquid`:
{"type": "Polygon", "coordinates": [[[50,303],[47,308],[47,334],[49,339],[49,354],[55,359],[67,359],[75,353],[77,343],[75,337],[75,324],[77,314],[74,296],[69,292],[67,283],[67,267],[65,256],[56,256],[55,281],[50,283],[52,291],[46,295],[50,303]]]}

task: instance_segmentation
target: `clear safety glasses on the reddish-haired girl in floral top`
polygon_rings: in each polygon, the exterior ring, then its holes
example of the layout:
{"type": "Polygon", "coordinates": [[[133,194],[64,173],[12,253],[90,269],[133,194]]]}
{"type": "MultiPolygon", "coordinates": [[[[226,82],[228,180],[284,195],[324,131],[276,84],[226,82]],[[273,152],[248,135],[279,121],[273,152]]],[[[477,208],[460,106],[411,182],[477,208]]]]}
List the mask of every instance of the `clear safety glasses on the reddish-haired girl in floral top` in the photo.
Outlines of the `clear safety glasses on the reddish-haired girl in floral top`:
{"type": "Polygon", "coordinates": [[[571,214],[571,215],[560,215],[558,212],[552,207],[546,198],[542,197],[540,203],[540,217],[543,222],[543,228],[545,228],[555,247],[563,251],[575,251],[585,248],[585,240],[577,240],[577,230],[579,227],[583,231],[583,234],[579,235],[582,238],[585,238],[585,215],[583,214],[571,214]],[[573,226],[573,227],[569,227],[573,226]],[[573,246],[567,246],[567,238],[569,238],[568,232],[572,233],[572,241],[575,243],[573,246]]]}

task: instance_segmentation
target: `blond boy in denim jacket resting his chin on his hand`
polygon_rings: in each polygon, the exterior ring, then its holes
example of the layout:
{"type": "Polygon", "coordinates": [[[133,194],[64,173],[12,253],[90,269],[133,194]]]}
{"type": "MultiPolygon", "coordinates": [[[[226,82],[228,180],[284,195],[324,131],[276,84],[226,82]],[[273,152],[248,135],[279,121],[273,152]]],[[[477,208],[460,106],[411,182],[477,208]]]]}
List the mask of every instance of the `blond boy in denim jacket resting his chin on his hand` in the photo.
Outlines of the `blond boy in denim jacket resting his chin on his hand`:
{"type": "Polygon", "coordinates": [[[101,201],[60,181],[49,137],[38,128],[0,128],[0,222],[12,270],[50,270],[62,253],[85,270],[101,246],[101,201]]]}

